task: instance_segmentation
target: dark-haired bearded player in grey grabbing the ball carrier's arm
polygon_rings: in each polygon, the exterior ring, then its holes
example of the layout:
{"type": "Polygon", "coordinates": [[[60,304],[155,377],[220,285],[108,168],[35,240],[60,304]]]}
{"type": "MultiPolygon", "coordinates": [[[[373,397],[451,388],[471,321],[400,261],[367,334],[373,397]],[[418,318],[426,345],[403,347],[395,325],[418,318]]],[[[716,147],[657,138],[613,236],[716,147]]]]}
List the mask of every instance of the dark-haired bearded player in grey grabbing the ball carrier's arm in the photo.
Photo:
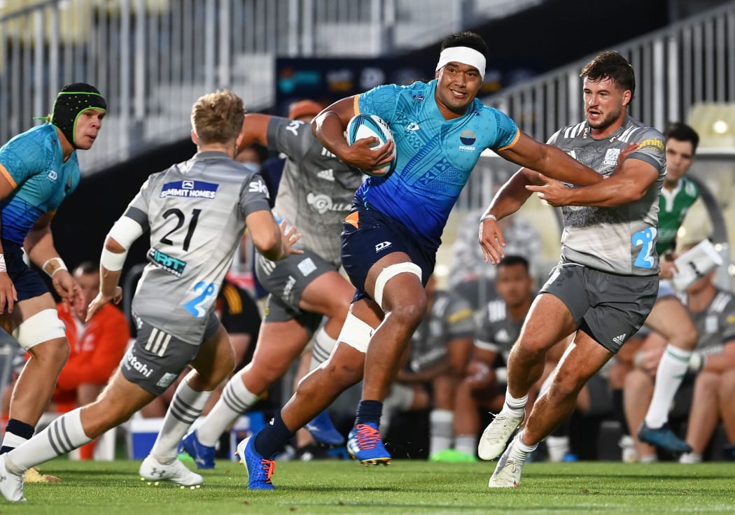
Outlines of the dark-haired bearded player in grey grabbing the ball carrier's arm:
{"type": "Polygon", "coordinates": [[[623,56],[603,52],[582,69],[581,77],[587,119],[562,127],[549,143],[597,170],[600,181],[568,187],[522,168],[495,195],[486,211],[490,217],[480,225],[480,244],[496,263],[503,256],[497,218],[515,212],[532,192],[563,206],[561,260],[511,350],[503,409],[478,445],[484,459],[503,453],[491,487],[518,485],[528,455],[569,417],[584,384],[643,325],[659,289],[656,231],[666,176],[664,137],[628,115],[635,76],[623,56]],[[574,341],[550,388],[506,449],[523,422],[528,391],[542,373],[545,354],[570,334],[574,341]]]}

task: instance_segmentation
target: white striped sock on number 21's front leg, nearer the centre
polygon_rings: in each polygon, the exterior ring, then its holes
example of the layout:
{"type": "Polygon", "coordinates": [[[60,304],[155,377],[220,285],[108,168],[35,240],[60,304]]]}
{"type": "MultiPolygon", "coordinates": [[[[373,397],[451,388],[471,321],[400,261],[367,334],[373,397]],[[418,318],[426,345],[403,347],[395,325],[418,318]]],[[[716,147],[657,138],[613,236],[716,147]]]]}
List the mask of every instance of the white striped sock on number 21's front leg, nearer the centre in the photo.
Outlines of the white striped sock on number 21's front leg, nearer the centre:
{"type": "Polygon", "coordinates": [[[182,381],[173,394],[171,404],[163,418],[163,427],[153,444],[151,455],[162,464],[171,463],[179,452],[179,442],[191,425],[201,415],[212,392],[197,392],[189,383],[182,381]]]}

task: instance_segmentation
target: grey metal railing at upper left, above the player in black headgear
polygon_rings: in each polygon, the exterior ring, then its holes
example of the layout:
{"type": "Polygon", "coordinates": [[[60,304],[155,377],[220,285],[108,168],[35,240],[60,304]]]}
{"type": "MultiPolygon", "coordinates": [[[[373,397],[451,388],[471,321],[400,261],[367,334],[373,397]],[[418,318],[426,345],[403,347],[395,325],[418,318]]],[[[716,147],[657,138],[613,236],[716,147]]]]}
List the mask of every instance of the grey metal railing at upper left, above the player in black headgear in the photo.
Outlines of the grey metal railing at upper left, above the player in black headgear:
{"type": "Polygon", "coordinates": [[[46,115],[64,84],[110,107],[87,173],[189,133],[198,96],[229,87],[275,101],[275,57],[376,56],[542,0],[4,0],[0,144],[46,115]]]}

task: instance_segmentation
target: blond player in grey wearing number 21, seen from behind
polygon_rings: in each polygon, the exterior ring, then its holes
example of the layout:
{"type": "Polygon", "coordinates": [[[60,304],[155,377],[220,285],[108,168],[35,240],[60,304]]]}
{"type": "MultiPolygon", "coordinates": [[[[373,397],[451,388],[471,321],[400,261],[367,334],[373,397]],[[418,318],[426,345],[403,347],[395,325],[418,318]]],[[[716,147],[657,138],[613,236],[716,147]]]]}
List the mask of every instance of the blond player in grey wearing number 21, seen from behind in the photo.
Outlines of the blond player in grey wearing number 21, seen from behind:
{"type": "Polygon", "coordinates": [[[176,459],[179,442],[204,403],[234,369],[234,351],[214,314],[215,298],[245,226],[268,259],[299,253],[298,234],[279,228],[262,178],[234,161],[243,123],[243,101],[229,91],[202,96],[191,112],[192,159],[148,177],[107,234],[101,287],[87,320],[105,303],[119,302],[127,250],[150,231],[148,265],[132,302],[137,339],[104,392],[93,403],[51,422],[28,442],[0,457],[0,493],[25,500],[23,473],[90,442],[160,395],[191,364],[179,384],[143,478],[196,486],[201,475],[176,459]]]}

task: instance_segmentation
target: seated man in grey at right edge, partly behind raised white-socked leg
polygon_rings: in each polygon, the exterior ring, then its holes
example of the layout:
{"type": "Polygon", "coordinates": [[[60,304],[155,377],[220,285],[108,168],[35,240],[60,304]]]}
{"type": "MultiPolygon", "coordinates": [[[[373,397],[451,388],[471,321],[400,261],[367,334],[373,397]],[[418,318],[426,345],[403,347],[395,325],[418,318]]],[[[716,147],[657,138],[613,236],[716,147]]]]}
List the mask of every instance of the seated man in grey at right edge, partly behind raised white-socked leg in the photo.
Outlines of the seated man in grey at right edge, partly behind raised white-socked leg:
{"type": "MultiPolygon", "coordinates": [[[[687,417],[686,443],[691,453],[681,455],[683,463],[702,460],[704,450],[720,419],[726,423],[728,438],[735,438],[735,296],[714,285],[714,271],[692,284],[679,298],[692,315],[699,340],[689,359],[683,386],[674,399],[672,417],[687,417]]],[[[625,378],[625,414],[628,426],[642,421],[653,393],[653,381],[666,340],[657,333],[646,339],[634,358],[635,368],[625,378]]],[[[656,461],[656,449],[635,439],[638,459],[656,461]]]]}

